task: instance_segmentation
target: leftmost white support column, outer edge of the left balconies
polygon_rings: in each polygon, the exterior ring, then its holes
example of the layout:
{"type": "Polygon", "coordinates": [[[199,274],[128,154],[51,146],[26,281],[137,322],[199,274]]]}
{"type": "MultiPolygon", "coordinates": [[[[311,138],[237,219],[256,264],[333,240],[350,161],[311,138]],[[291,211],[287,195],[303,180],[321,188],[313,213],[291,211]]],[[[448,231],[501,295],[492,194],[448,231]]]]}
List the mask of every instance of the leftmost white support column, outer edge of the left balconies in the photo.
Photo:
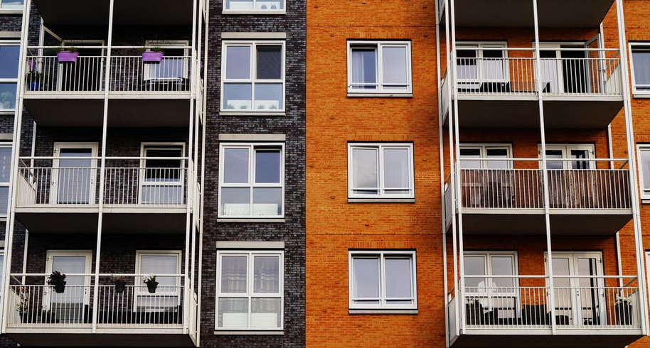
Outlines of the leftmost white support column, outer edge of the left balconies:
{"type": "Polygon", "coordinates": [[[20,156],[21,126],[23,121],[23,94],[25,91],[25,70],[27,65],[27,45],[29,43],[29,14],[31,12],[31,0],[25,0],[23,5],[23,21],[21,24],[21,48],[18,56],[18,85],[16,87],[16,112],[14,113],[14,137],[11,145],[11,172],[9,173],[9,211],[7,212],[6,229],[4,232],[4,263],[2,274],[2,301],[0,322],[1,333],[6,332],[6,318],[9,309],[6,306],[9,301],[9,284],[11,283],[11,255],[14,246],[14,222],[16,221],[16,175],[18,175],[18,156],[20,156]]]}

